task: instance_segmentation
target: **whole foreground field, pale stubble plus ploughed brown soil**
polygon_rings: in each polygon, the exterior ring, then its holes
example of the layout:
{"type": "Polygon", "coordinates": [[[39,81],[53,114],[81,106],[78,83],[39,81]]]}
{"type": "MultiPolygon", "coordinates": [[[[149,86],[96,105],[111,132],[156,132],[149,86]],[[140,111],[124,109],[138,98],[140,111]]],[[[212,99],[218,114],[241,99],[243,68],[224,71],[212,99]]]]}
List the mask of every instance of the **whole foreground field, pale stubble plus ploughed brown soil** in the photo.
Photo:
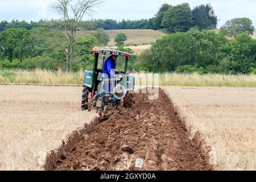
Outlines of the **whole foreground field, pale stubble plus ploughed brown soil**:
{"type": "MultiPolygon", "coordinates": [[[[137,169],[137,159],[143,170],[256,169],[255,88],[161,88],[157,100],[135,94],[132,108],[82,135],[52,169],[137,169]]],[[[0,169],[43,169],[47,152],[90,123],[81,89],[0,85],[0,169]]]]}

